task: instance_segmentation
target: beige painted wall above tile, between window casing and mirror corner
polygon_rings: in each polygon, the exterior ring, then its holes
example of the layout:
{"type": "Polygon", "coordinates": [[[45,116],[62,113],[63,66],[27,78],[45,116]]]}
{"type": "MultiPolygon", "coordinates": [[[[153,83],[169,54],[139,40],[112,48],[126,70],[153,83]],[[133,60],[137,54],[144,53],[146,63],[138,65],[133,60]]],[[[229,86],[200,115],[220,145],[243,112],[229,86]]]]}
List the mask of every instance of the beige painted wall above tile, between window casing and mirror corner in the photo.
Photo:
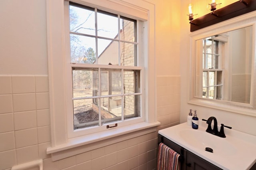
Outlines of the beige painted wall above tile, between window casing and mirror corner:
{"type": "Polygon", "coordinates": [[[156,3],[156,75],[180,75],[180,2],[156,3]]]}

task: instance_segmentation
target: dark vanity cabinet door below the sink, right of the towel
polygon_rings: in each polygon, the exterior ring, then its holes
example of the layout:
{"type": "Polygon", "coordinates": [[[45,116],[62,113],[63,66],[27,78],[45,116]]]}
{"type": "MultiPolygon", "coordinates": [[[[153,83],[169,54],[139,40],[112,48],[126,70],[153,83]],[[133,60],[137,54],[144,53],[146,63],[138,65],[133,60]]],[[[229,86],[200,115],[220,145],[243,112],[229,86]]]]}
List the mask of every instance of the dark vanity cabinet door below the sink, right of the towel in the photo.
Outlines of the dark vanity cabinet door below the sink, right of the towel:
{"type": "Polygon", "coordinates": [[[187,170],[221,170],[214,164],[196,156],[195,154],[187,151],[187,170]]]}

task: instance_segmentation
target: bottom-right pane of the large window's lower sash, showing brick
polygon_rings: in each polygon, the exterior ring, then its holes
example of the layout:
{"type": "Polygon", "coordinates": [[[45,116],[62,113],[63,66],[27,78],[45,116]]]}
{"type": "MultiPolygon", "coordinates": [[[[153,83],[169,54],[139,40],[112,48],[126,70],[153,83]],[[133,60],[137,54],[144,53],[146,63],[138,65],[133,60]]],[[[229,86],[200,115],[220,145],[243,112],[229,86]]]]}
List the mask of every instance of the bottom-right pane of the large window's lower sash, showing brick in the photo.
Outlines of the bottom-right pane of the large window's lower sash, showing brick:
{"type": "Polygon", "coordinates": [[[140,116],[140,95],[124,96],[124,119],[140,116]]]}

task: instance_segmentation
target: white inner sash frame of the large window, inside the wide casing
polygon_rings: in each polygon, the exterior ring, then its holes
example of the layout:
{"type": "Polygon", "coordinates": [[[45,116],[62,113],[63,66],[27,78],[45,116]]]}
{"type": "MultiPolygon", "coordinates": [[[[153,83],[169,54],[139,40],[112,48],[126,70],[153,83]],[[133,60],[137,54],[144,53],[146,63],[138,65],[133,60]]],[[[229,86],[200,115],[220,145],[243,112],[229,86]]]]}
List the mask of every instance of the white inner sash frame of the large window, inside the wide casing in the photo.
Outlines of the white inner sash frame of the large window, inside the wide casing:
{"type": "MultiPolygon", "coordinates": [[[[91,7],[91,6],[90,6],[91,7]]],[[[64,10],[65,12],[68,13],[69,11],[69,4],[64,6],[64,10]]],[[[100,10],[100,9],[97,9],[100,10]]],[[[109,12],[109,11],[106,11],[109,12]]],[[[68,13],[69,15],[69,13],[68,13]]],[[[120,19],[120,16],[118,16],[118,19],[120,19]]],[[[134,18],[132,18],[134,19],[134,18]]],[[[65,35],[66,35],[66,61],[68,61],[66,63],[66,84],[67,84],[67,98],[66,98],[66,106],[67,106],[67,119],[68,120],[72,120],[73,119],[73,104],[72,104],[72,91],[70,91],[70,89],[72,89],[72,75],[71,75],[71,68],[72,67],[88,67],[88,68],[100,68],[100,69],[134,69],[134,70],[140,70],[140,89],[144,89],[144,81],[142,81],[143,77],[144,77],[144,67],[140,67],[140,65],[144,66],[144,63],[142,62],[143,58],[143,48],[140,48],[140,45],[142,44],[142,38],[144,37],[144,35],[140,36],[138,33],[144,33],[143,32],[143,23],[142,21],[137,20],[137,24],[136,24],[136,32],[137,32],[137,42],[135,44],[137,44],[137,61],[136,63],[138,63],[139,66],[124,66],[124,65],[100,65],[100,64],[86,64],[86,63],[71,63],[70,61],[70,23],[69,23],[69,17],[65,18],[65,25],[66,28],[65,29],[65,35]],[[72,114],[70,114],[72,113],[72,114]]],[[[118,24],[120,25],[120,24],[118,24]]],[[[118,39],[120,38],[120,35],[118,35],[118,39]]],[[[118,40],[119,42],[121,42],[121,40],[118,40]]],[[[97,55],[97,51],[96,51],[96,55],[97,55]]],[[[97,63],[98,59],[96,57],[96,63],[97,63]]],[[[120,61],[119,61],[120,62],[120,61]]],[[[99,75],[100,76],[100,75],[99,75]]],[[[135,123],[140,123],[140,122],[144,122],[145,121],[145,113],[144,113],[144,92],[141,90],[141,92],[139,92],[137,95],[140,95],[140,115],[136,118],[133,119],[127,119],[127,120],[123,120],[123,121],[117,121],[114,123],[105,123],[104,126],[93,126],[93,127],[87,127],[87,128],[79,128],[76,130],[74,129],[74,124],[73,121],[67,121],[68,124],[68,138],[74,138],[74,137],[78,137],[78,136],[82,136],[85,134],[92,134],[92,133],[96,133],[96,132],[102,132],[102,131],[106,131],[109,130],[106,128],[107,125],[109,125],[110,127],[114,126],[115,123],[118,123],[118,128],[119,127],[124,127],[127,125],[131,125],[131,124],[135,124],[135,123]]],[[[99,96],[101,96],[99,94],[99,96]]],[[[100,107],[100,106],[99,106],[100,107]]]]}

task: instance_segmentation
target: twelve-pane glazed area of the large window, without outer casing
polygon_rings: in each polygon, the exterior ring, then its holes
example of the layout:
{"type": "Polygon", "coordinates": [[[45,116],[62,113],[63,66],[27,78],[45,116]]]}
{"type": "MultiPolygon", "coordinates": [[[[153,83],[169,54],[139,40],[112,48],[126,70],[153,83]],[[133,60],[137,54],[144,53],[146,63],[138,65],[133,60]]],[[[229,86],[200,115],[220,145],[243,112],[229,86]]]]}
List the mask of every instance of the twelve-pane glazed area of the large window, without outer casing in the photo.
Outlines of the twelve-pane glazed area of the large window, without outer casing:
{"type": "Polygon", "coordinates": [[[69,18],[74,130],[141,117],[137,21],[73,2],[69,18]]]}

